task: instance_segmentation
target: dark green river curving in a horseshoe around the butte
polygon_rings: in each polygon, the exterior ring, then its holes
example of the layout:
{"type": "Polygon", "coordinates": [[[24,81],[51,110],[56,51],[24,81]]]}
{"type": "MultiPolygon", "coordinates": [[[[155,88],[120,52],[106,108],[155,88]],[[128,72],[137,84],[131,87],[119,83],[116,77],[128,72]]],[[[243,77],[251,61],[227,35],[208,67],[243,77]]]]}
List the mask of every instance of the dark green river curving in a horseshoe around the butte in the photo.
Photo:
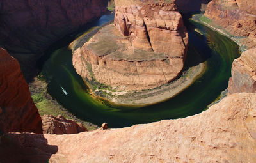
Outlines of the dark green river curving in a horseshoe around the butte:
{"type": "MultiPolygon", "coordinates": [[[[104,16],[92,26],[113,19],[104,16]]],[[[128,127],[164,119],[184,118],[201,113],[228,86],[232,61],[239,57],[239,47],[226,36],[193,21],[186,21],[189,33],[187,66],[194,66],[193,56],[199,53],[205,61],[205,72],[187,89],[173,98],[148,106],[120,106],[95,100],[88,95],[88,87],[72,66],[72,52],[67,48],[74,36],[65,37],[48,50],[42,74],[49,83],[48,93],[77,118],[97,125],[108,123],[110,128],[128,127]],[[194,31],[197,28],[203,35],[194,31]],[[62,46],[62,47],[61,47],[62,46]],[[67,95],[63,90],[67,91],[67,95]]],[[[88,30],[88,27],[84,31],[88,30]]]]}

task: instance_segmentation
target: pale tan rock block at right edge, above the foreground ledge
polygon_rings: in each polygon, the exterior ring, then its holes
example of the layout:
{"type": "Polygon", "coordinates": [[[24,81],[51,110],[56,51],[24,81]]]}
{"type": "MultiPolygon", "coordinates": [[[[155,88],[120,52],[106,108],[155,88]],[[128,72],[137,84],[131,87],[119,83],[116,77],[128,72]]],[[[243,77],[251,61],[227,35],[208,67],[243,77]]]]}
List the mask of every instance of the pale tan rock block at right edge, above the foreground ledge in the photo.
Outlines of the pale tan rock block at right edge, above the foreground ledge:
{"type": "Polygon", "coordinates": [[[228,93],[256,92],[256,48],[234,60],[231,73],[228,93]]]}

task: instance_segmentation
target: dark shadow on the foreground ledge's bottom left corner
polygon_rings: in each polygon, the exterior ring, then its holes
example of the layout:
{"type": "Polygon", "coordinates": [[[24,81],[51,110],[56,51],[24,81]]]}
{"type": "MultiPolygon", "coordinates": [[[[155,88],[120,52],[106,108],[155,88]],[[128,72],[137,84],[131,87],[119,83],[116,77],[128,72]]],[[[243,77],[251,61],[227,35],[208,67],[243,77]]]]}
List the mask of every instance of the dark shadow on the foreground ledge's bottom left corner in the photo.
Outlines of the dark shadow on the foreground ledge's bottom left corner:
{"type": "Polygon", "coordinates": [[[47,143],[43,134],[3,134],[0,136],[0,162],[48,162],[58,146],[47,143]]]}

